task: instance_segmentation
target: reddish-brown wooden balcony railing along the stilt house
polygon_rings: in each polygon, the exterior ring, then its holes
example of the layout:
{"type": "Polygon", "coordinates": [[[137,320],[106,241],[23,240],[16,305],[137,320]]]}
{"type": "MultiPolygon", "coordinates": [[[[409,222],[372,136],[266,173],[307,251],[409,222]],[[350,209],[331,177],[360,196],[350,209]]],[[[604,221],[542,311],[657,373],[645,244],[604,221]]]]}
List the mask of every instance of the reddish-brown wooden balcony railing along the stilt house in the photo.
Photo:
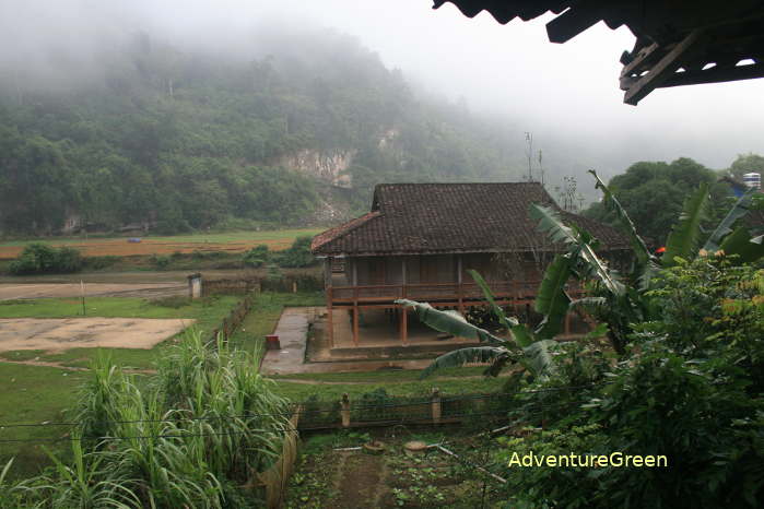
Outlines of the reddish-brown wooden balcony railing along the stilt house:
{"type": "MultiPolygon", "coordinates": [[[[540,281],[491,281],[489,286],[499,299],[532,299],[540,281]]],[[[577,288],[571,288],[578,293],[577,288]]],[[[359,285],[331,288],[333,304],[371,303],[409,298],[412,300],[474,300],[483,292],[475,283],[416,283],[405,285],[359,285]]]]}

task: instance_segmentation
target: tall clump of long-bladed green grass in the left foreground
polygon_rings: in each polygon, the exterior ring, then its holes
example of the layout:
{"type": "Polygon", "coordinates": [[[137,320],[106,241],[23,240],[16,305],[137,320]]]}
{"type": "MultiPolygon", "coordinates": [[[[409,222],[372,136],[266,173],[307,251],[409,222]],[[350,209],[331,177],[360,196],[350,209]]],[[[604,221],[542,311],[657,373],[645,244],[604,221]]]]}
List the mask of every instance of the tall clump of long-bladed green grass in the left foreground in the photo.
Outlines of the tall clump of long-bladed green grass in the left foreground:
{"type": "Polygon", "coordinates": [[[278,457],[289,405],[256,358],[198,332],[169,347],[152,377],[97,357],[77,409],[73,465],[51,454],[52,469],[13,489],[44,508],[257,505],[243,486],[278,457]]]}

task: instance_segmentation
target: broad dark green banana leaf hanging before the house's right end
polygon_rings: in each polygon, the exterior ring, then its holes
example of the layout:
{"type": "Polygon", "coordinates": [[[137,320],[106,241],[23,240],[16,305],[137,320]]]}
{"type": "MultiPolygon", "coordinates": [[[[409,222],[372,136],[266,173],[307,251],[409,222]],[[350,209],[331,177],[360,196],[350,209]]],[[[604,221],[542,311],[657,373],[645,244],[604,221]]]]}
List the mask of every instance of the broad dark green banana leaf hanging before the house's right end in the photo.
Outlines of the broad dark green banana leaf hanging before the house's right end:
{"type": "Polygon", "coordinates": [[[539,338],[551,339],[562,331],[571,306],[571,297],[565,292],[565,284],[573,272],[573,263],[574,260],[569,254],[557,254],[544,272],[534,304],[536,310],[544,316],[536,329],[539,338]]]}

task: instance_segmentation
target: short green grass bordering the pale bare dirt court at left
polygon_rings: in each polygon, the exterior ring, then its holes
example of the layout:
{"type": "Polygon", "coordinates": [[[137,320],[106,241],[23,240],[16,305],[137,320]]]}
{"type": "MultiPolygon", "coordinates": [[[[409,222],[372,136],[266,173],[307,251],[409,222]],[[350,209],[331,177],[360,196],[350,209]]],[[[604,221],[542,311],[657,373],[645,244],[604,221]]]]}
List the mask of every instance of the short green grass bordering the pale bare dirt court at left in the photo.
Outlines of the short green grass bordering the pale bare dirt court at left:
{"type": "MultiPolygon", "coordinates": [[[[196,327],[203,335],[216,328],[238,303],[235,296],[214,296],[200,300],[183,297],[146,300],[126,297],[93,297],[85,304],[86,316],[103,318],[188,318],[196,319],[196,327]]],[[[78,299],[36,299],[0,303],[0,318],[70,318],[82,317],[82,305],[78,299]]],[[[110,348],[117,364],[134,368],[151,368],[153,362],[168,343],[163,342],[152,350],[110,348]]],[[[8,360],[38,359],[60,363],[63,366],[87,367],[99,348],[70,348],[66,352],[46,354],[42,351],[12,351],[0,353],[8,360]]]]}

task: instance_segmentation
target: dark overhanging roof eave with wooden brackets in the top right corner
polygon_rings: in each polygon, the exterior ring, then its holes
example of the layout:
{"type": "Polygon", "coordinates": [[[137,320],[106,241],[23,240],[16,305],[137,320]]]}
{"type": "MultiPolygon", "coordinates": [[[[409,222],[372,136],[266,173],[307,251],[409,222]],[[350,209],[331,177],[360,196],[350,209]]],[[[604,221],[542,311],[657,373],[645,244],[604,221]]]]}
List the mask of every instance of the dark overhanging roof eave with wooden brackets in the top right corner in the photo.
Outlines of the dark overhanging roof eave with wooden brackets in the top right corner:
{"type": "Polygon", "coordinates": [[[636,43],[621,55],[620,82],[632,105],[655,88],[764,78],[761,0],[434,0],[434,8],[446,2],[469,17],[487,11],[502,24],[551,11],[559,14],[546,24],[552,43],[600,21],[626,25],[636,43]]]}

